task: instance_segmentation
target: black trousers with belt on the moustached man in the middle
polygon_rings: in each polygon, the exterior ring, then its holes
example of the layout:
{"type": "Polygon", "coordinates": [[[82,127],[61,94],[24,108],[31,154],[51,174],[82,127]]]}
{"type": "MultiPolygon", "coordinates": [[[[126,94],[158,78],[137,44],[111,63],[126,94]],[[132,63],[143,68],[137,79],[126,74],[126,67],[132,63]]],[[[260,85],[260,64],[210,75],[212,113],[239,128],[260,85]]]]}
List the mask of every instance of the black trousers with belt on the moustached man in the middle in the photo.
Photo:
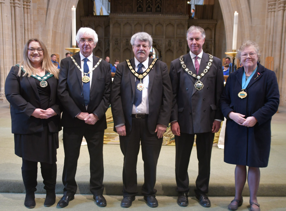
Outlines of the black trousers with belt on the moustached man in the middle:
{"type": "MultiPolygon", "coordinates": [[[[147,117],[148,118],[148,117],[147,117]]],[[[154,196],[157,190],[156,168],[163,138],[158,139],[155,134],[148,131],[147,118],[132,118],[132,130],[126,136],[119,136],[120,149],[124,155],[123,163],[123,196],[135,196],[137,194],[137,157],[140,149],[144,161],[144,184],[142,195],[154,196]]],[[[155,130],[154,130],[155,131],[155,130]]]]}

